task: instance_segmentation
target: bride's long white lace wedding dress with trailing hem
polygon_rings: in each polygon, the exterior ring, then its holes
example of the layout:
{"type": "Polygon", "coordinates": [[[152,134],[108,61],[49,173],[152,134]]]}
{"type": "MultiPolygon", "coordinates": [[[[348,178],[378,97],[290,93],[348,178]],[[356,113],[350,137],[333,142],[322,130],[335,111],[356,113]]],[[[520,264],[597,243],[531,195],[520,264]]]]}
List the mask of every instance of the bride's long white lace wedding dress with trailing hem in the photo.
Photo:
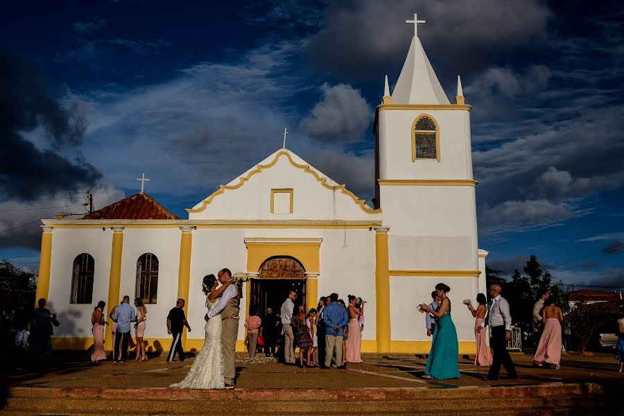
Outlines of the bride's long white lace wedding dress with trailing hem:
{"type": "MultiPolygon", "coordinates": [[[[206,307],[211,309],[214,303],[206,297],[206,307]]],[[[223,379],[223,352],[221,352],[221,320],[220,315],[211,318],[205,325],[206,338],[189,374],[180,381],[172,384],[177,388],[225,388],[223,379]]]]}

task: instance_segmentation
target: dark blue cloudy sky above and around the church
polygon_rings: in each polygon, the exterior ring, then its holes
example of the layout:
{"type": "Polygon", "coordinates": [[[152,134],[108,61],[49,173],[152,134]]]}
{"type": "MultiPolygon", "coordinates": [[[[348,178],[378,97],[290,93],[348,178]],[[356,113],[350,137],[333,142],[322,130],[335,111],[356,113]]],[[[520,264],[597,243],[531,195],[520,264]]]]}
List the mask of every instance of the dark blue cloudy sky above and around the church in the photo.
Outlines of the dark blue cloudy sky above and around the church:
{"type": "Polygon", "coordinates": [[[0,258],[40,218],[146,192],[181,218],[287,147],[374,194],[374,109],[418,34],[472,106],[479,246],[510,275],[624,289],[624,3],[20,1],[0,15],[0,258]]]}

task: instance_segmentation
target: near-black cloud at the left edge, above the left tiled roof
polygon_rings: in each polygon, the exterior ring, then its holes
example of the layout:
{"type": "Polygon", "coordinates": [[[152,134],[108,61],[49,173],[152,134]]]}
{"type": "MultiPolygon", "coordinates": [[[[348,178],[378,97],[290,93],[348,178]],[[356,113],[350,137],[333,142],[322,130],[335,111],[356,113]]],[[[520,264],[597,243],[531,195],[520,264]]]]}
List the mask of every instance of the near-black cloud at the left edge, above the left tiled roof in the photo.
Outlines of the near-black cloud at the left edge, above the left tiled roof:
{"type": "Polygon", "coordinates": [[[80,145],[84,132],[80,112],[62,107],[35,67],[0,49],[0,192],[36,198],[95,184],[101,173],[94,166],[60,153],[80,145]],[[38,129],[45,148],[26,139],[38,129]]]}

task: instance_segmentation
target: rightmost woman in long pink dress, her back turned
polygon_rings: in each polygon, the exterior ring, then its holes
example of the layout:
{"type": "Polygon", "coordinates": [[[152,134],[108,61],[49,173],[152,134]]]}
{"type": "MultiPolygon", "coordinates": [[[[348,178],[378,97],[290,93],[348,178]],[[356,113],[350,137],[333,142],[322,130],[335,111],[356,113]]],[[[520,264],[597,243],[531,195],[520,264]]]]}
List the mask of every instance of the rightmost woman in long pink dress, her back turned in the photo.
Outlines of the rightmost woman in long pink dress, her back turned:
{"type": "Polygon", "coordinates": [[[553,305],[553,297],[544,301],[541,317],[544,318],[544,332],[539,338],[539,345],[533,357],[533,365],[539,367],[544,363],[554,364],[558,369],[561,361],[561,322],[563,312],[560,307],[553,305]]]}

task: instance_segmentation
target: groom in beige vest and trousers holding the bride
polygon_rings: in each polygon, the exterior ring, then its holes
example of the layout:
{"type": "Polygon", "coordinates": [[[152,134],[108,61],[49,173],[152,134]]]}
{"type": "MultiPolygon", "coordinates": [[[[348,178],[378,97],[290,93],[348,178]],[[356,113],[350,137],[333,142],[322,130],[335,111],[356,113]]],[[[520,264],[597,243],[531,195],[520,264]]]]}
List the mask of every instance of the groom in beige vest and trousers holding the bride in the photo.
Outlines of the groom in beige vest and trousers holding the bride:
{"type": "MultiPolygon", "coordinates": [[[[227,268],[218,272],[221,284],[232,280],[232,272],[227,268]]],[[[207,313],[206,320],[214,318],[219,313],[223,322],[221,327],[221,349],[223,350],[223,375],[225,388],[234,388],[236,377],[236,338],[239,335],[239,310],[241,290],[238,284],[231,284],[225,288],[219,302],[207,313]]],[[[217,318],[218,319],[218,318],[217,318]]]]}

